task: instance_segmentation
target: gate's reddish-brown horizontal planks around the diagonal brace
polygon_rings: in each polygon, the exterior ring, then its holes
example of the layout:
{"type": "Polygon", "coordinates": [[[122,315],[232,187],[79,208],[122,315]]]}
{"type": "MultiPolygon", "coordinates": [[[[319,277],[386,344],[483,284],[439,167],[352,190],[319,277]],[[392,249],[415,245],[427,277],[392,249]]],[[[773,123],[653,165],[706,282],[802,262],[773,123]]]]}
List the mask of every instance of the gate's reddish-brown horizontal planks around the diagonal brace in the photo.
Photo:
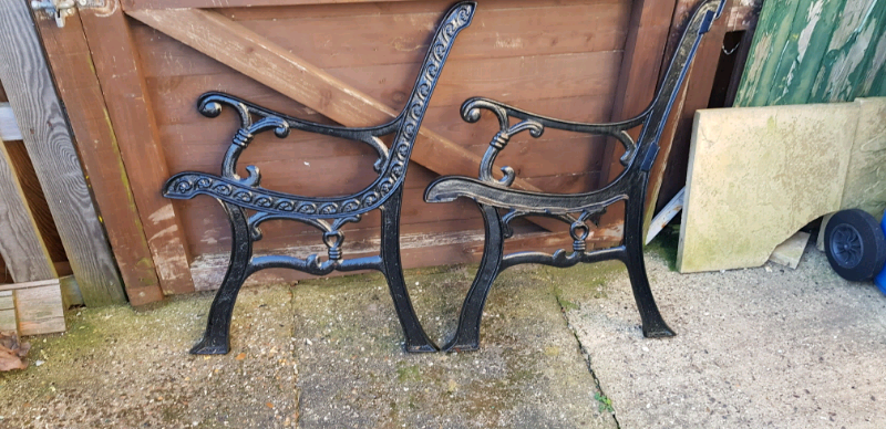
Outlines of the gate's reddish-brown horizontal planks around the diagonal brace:
{"type": "MultiPolygon", "coordinates": [[[[405,102],[431,30],[447,6],[441,1],[415,1],[217,12],[394,112],[405,102]],[[293,32],[293,28],[310,31],[293,32]]],[[[609,119],[630,6],[620,0],[483,2],[446,63],[424,128],[478,159],[496,129],[490,118],[480,124],[461,119],[459,105],[473,95],[575,121],[609,119]]],[[[297,117],[330,123],[318,111],[150,27],[134,24],[133,35],[172,171],[216,172],[236,130],[230,113],[215,119],[197,113],[194,103],[205,91],[226,91],[297,117]]],[[[415,155],[423,145],[425,140],[416,144],[413,159],[418,160],[415,155]]],[[[548,130],[540,139],[515,138],[499,159],[501,165],[514,167],[528,185],[576,192],[596,186],[604,146],[601,139],[548,130]]],[[[475,160],[459,167],[457,159],[442,155],[435,158],[444,163],[439,171],[443,174],[475,176],[478,168],[475,160]]],[[[241,165],[261,167],[265,186],[301,195],[340,195],[360,189],[372,180],[373,161],[371,149],[363,145],[305,133],[292,133],[285,142],[260,136],[241,158],[241,165]]],[[[418,163],[412,164],[406,179],[404,227],[442,221],[457,228],[455,222],[463,220],[463,226],[482,228],[471,205],[422,201],[424,187],[435,176],[418,163]]],[[[176,202],[176,207],[193,254],[226,251],[227,221],[215,201],[198,198],[176,202]]],[[[364,217],[358,227],[367,237],[378,233],[377,217],[364,217]]],[[[557,228],[565,230],[566,226],[557,228]]],[[[316,241],[312,229],[299,223],[269,224],[266,229],[265,240],[257,243],[259,249],[316,241]]],[[[353,242],[350,234],[348,240],[353,242]]]]}

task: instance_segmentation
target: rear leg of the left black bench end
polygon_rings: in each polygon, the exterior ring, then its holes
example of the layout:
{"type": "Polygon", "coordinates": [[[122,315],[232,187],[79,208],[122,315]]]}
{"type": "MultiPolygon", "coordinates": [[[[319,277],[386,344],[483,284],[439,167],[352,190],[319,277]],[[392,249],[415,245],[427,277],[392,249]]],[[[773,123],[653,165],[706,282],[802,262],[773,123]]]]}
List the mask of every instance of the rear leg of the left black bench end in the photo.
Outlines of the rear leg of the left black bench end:
{"type": "Polygon", "coordinates": [[[433,353],[439,348],[424,333],[419,316],[412,307],[406,281],[403,279],[403,265],[400,259],[400,207],[403,188],[392,192],[391,198],[381,209],[381,264],[382,274],[388,281],[388,289],[394,302],[394,310],[403,328],[404,345],[409,353],[433,353]]]}

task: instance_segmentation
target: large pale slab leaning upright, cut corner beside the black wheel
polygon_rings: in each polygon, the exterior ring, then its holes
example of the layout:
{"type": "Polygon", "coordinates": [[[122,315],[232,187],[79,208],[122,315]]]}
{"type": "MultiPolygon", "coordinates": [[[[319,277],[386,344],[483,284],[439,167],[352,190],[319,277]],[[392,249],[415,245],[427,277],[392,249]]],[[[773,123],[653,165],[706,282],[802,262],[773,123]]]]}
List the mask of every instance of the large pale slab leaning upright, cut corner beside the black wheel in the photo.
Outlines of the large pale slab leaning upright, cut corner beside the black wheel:
{"type": "Polygon", "coordinates": [[[696,113],[677,266],[761,266],[781,242],[839,210],[857,103],[696,113]]]}

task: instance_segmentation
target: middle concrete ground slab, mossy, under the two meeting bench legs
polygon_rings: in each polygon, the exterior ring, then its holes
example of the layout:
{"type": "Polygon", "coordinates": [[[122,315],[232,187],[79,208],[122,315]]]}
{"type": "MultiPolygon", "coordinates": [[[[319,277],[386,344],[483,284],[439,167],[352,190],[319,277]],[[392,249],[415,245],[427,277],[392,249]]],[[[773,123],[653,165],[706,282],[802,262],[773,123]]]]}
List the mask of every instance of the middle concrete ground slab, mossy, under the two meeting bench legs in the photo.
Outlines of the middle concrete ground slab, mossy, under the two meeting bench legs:
{"type": "MultiPolygon", "coordinates": [[[[463,268],[406,275],[437,344],[473,276],[463,268]]],[[[556,289],[514,270],[494,285],[481,350],[408,355],[381,275],[293,289],[302,428],[614,428],[566,325],[556,289]]]]}

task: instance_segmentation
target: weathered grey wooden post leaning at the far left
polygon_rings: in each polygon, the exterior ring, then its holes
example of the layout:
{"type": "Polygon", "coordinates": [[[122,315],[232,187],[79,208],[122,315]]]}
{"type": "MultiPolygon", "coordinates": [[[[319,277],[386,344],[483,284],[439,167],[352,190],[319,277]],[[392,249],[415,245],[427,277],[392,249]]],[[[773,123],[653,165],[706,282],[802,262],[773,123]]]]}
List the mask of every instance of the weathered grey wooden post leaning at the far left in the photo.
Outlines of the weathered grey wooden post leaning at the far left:
{"type": "Polygon", "coordinates": [[[89,305],[126,301],[28,4],[0,3],[0,80],[89,305]]]}

